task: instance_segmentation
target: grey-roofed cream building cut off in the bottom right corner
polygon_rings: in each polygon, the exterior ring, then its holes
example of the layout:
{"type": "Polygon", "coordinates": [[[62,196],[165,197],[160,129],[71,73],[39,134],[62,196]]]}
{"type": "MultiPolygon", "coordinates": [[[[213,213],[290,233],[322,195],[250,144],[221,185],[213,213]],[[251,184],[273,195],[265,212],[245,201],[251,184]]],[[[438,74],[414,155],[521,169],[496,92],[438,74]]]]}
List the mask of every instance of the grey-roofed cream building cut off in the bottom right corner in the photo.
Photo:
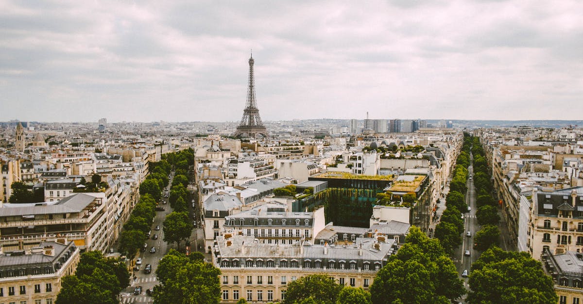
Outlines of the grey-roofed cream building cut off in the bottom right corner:
{"type": "Polygon", "coordinates": [[[583,301],[583,253],[567,251],[553,254],[545,250],[540,257],[543,269],[553,278],[560,304],[583,301]]]}

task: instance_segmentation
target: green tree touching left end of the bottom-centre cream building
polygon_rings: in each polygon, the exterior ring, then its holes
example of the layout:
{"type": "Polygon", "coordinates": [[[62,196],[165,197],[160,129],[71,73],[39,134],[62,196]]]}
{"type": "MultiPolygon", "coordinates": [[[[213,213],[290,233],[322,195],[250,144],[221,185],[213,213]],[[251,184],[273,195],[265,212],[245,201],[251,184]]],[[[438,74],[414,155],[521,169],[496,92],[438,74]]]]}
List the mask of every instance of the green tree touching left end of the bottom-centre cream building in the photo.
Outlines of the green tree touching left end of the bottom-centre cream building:
{"type": "Polygon", "coordinates": [[[154,303],[219,303],[219,268],[171,249],[156,270],[160,285],[154,287],[154,303]],[[169,259],[169,260],[166,260],[169,259]]]}

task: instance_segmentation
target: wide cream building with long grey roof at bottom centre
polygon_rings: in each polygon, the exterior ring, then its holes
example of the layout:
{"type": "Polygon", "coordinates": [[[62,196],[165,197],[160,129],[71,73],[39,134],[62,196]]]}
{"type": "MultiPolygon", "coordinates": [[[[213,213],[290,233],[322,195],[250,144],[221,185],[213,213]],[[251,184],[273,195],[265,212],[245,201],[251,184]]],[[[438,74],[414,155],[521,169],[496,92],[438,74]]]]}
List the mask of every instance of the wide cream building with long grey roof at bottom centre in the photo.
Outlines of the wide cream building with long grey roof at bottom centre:
{"type": "Polygon", "coordinates": [[[393,239],[359,238],[354,245],[307,241],[282,245],[226,234],[213,245],[213,264],[221,271],[221,303],[236,303],[240,298],[265,303],[282,301],[289,282],[311,274],[367,289],[395,251],[393,239]]]}

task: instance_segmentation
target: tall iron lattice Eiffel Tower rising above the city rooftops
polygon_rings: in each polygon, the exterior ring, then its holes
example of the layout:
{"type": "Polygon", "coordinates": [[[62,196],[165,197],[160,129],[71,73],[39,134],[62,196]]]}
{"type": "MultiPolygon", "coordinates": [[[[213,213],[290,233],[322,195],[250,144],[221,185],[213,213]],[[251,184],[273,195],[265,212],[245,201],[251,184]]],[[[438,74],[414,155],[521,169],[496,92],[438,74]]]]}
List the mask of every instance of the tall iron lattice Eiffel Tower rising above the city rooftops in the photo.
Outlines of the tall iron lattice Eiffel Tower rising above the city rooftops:
{"type": "Polygon", "coordinates": [[[253,73],[253,54],[249,58],[249,86],[247,87],[247,103],[243,110],[243,118],[233,134],[235,137],[257,137],[261,135],[267,137],[267,129],[261,122],[257,99],[255,98],[255,76],[253,73]]]}

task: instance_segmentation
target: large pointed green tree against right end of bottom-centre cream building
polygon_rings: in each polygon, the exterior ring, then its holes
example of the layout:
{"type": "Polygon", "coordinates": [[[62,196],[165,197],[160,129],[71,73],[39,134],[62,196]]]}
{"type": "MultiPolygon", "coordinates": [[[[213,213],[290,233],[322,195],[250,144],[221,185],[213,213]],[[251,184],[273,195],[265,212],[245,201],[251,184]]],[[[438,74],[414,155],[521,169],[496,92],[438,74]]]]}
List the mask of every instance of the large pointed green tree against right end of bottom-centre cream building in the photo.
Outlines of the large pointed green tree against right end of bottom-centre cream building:
{"type": "Polygon", "coordinates": [[[465,289],[440,242],[412,226],[405,244],[378,271],[370,293],[375,304],[449,303],[465,289]]]}

